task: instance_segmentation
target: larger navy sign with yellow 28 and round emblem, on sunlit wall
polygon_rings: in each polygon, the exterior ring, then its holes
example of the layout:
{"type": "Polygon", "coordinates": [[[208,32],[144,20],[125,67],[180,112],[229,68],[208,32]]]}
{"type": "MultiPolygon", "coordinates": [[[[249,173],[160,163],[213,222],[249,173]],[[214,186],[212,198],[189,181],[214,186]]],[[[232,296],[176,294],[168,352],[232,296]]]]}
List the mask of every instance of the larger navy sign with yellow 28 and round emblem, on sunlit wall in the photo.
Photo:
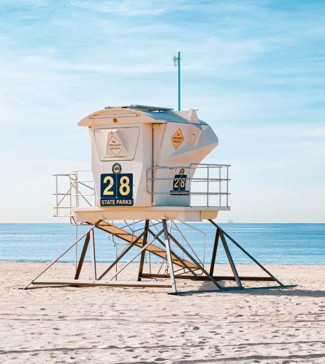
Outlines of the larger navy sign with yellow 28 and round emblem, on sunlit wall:
{"type": "Polygon", "coordinates": [[[121,164],[115,163],[113,173],[101,174],[100,205],[133,206],[133,173],[121,173],[121,164]]]}

